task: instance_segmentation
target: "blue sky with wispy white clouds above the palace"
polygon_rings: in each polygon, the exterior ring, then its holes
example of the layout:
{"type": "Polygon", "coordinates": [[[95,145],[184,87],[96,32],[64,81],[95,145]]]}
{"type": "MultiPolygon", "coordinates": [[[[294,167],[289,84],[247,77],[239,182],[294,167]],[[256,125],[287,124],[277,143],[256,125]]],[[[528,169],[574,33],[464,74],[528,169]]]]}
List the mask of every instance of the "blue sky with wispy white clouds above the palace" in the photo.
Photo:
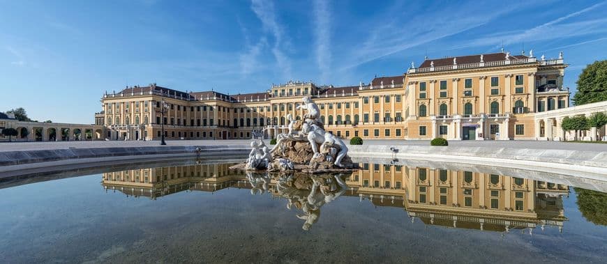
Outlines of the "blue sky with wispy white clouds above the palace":
{"type": "Polygon", "coordinates": [[[93,123],[104,91],[156,82],[181,91],[336,86],[401,75],[412,61],[499,52],[570,64],[607,59],[598,1],[0,0],[0,111],[93,123]]]}

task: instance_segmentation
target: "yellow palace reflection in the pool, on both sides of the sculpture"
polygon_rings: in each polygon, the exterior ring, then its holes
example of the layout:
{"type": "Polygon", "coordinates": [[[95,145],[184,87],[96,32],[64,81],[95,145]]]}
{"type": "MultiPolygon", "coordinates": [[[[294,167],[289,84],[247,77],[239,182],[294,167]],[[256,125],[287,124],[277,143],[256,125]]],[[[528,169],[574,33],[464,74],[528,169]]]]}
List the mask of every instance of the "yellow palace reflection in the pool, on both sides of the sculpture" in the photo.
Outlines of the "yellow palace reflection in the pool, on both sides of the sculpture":
{"type": "MultiPolygon", "coordinates": [[[[197,164],[103,173],[106,190],[156,199],[176,192],[215,192],[228,187],[281,196],[280,180],[251,177],[231,164],[197,164]]],[[[343,196],[358,196],[376,206],[407,210],[410,221],[428,225],[509,231],[557,226],[562,231],[562,196],[567,185],[473,171],[360,164],[345,179],[343,196]]],[[[337,187],[339,189],[339,187],[337,187]]],[[[342,195],[342,194],[339,194],[342,195]]],[[[290,202],[291,203],[291,202],[290,202]]]]}

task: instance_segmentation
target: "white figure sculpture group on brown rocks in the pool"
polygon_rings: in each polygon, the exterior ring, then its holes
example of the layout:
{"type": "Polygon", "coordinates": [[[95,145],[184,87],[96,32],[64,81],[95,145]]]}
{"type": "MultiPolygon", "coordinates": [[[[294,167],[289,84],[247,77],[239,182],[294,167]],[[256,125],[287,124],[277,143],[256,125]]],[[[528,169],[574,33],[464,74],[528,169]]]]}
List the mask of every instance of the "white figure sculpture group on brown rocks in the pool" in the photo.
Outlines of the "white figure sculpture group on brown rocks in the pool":
{"type": "Polygon", "coordinates": [[[250,143],[251,151],[245,164],[233,169],[246,171],[303,171],[330,173],[352,171],[355,164],[347,156],[347,146],[331,132],[324,131],[320,109],[308,97],[297,109],[305,109],[304,120],[287,115],[288,132],[278,134],[276,146],[269,150],[261,140],[250,143]]]}

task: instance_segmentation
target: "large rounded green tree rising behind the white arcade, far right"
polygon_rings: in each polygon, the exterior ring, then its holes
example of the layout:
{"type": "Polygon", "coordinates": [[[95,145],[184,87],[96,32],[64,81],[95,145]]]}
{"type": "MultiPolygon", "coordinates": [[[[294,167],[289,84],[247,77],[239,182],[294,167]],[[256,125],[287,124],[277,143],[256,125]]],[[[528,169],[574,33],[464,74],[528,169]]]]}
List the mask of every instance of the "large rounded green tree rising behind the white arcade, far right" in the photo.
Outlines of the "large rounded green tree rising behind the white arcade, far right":
{"type": "Polygon", "coordinates": [[[587,65],[578,77],[574,104],[590,104],[607,100],[607,60],[587,65]]]}

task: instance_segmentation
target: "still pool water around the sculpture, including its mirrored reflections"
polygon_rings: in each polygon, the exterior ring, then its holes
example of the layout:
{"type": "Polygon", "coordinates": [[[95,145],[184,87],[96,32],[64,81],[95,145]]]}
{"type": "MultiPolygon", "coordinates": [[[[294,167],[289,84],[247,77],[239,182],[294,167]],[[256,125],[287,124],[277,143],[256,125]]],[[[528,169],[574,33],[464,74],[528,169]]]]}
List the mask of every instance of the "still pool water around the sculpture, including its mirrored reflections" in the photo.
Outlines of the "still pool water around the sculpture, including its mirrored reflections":
{"type": "Polygon", "coordinates": [[[605,183],[458,164],[361,162],[361,171],[310,177],[243,173],[224,162],[4,181],[2,262],[607,259],[605,183]]]}

